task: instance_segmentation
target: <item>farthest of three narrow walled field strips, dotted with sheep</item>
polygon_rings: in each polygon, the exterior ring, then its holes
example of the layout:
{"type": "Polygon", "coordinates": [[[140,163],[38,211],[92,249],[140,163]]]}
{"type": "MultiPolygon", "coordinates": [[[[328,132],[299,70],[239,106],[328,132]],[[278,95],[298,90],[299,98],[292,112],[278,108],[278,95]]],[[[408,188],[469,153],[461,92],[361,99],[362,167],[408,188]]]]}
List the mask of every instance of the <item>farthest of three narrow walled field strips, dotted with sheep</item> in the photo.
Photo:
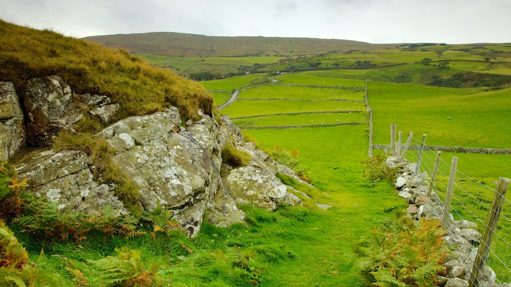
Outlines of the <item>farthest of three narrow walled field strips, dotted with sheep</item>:
{"type": "Polygon", "coordinates": [[[301,100],[350,100],[362,101],[364,91],[359,88],[313,88],[266,85],[239,94],[240,99],[301,99],[301,100]]]}

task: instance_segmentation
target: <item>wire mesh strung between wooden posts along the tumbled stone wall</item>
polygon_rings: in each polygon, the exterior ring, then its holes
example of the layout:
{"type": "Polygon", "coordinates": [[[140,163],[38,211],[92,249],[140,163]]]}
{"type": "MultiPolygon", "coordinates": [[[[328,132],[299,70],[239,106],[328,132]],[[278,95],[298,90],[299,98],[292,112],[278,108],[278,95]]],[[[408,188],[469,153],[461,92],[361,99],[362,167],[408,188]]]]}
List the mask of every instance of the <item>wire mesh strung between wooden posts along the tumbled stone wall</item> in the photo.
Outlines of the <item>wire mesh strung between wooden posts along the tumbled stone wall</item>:
{"type": "MultiPolygon", "coordinates": [[[[420,139],[412,138],[408,152],[406,153],[406,160],[415,163],[418,161],[421,142],[422,140],[420,139]]],[[[401,154],[401,152],[402,150],[398,151],[398,154],[401,154]]],[[[429,179],[425,181],[424,184],[430,185],[429,182],[433,174],[436,157],[436,151],[424,146],[418,170],[419,173],[427,172],[428,174],[427,178],[429,179]]],[[[432,200],[440,201],[444,209],[446,208],[451,167],[450,159],[448,160],[440,157],[435,180],[430,185],[432,187],[432,200]]],[[[481,182],[457,169],[453,171],[455,173],[455,179],[450,213],[452,214],[455,224],[461,229],[472,228],[477,230],[480,234],[483,234],[483,230],[487,226],[490,210],[492,209],[497,182],[481,182]],[[475,223],[477,226],[468,226],[467,222],[463,221],[475,223]]],[[[444,226],[447,227],[450,224],[452,226],[452,223],[444,218],[442,214],[444,210],[438,211],[444,226]]],[[[499,214],[500,218],[497,227],[493,230],[495,232],[493,242],[489,247],[490,252],[488,258],[485,260],[485,264],[496,273],[496,282],[502,284],[511,282],[511,201],[504,199],[504,205],[499,214]]],[[[452,228],[446,228],[446,230],[450,236],[454,235],[454,230],[452,228]]],[[[480,245],[483,244],[484,243],[481,242],[480,245]]],[[[475,259],[476,253],[472,253],[472,259],[475,259]]],[[[481,274],[483,274],[483,270],[481,270],[481,274]]],[[[468,276],[470,275],[468,274],[467,277],[468,276]]]]}

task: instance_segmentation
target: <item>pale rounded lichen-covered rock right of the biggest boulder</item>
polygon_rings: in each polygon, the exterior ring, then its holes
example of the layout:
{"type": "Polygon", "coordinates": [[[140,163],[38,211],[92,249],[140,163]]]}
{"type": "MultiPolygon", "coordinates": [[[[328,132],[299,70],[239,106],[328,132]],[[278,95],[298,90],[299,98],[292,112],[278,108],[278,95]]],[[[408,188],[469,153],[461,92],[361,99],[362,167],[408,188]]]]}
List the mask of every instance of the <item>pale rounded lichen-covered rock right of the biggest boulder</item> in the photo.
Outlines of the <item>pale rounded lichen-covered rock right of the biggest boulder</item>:
{"type": "Polygon", "coordinates": [[[234,169],[225,177],[228,194],[238,204],[275,210],[280,204],[299,205],[301,201],[287,192],[286,185],[268,169],[248,165],[234,169]]]}

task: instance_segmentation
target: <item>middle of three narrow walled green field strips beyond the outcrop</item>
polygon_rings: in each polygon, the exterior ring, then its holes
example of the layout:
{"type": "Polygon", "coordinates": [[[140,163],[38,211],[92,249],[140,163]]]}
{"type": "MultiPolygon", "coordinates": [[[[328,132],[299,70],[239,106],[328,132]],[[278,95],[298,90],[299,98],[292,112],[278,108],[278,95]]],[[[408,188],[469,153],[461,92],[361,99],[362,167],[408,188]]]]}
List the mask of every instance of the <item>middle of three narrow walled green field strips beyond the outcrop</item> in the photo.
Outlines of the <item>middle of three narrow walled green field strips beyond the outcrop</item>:
{"type": "Polygon", "coordinates": [[[307,102],[307,101],[237,101],[222,110],[223,114],[231,117],[249,116],[259,114],[272,114],[281,112],[309,112],[309,111],[354,111],[364,110],[363,103],[353,102],[307,102]]]}

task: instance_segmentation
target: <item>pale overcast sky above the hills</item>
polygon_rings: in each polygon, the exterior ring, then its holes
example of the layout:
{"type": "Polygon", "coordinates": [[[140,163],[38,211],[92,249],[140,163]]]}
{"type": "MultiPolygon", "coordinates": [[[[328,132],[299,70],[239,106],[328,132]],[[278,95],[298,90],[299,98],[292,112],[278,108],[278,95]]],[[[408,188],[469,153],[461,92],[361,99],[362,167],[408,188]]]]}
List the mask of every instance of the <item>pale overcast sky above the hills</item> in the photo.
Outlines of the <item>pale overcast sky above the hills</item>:
{"type": "Polygon", "coordinates": [[[511,42],[511,0],[1,0],[0,17],[74,37],[181,32],[370,43],[511,42]]]}

